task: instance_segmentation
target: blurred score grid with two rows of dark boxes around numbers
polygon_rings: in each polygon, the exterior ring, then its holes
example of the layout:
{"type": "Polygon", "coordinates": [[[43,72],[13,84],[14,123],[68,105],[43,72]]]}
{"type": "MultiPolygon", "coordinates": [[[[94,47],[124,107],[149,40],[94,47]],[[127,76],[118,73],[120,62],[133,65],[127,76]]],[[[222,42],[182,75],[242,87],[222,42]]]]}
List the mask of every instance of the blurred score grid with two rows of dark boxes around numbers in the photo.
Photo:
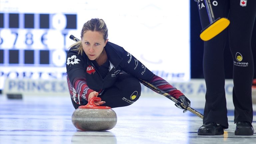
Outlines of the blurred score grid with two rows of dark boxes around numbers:
{"type": "Polygon", "coordinates": [[[65,66],[76,14],[0,13],[0,64],[65,66]]]}

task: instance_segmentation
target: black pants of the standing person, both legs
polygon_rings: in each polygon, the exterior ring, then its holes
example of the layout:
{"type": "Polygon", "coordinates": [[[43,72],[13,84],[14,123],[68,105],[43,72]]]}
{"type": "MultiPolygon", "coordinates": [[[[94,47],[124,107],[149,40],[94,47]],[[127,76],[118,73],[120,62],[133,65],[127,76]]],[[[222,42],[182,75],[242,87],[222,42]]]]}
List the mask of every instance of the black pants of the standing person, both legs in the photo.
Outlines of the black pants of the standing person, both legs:
{"type": "MultiPolygon", "coordinates": [[[[210,24],[205,2],[198,2],[202,28],[210,24]]],[[[256,15],[256,0],[248,0],[240,6],[240,0],[211,0],[215,18],[226,17],[229,45],[233,57],[233,103],[234,122],[252,123],[252,80],[254,64],[251,49],[251,36],[256,15]]],[[[206,82],[206,103],[203,123],[216,122],[228,128],[225,98],[225,75],[223,52],[227,29],[209,41],[204,42],[203,73],[206,82]]]]}

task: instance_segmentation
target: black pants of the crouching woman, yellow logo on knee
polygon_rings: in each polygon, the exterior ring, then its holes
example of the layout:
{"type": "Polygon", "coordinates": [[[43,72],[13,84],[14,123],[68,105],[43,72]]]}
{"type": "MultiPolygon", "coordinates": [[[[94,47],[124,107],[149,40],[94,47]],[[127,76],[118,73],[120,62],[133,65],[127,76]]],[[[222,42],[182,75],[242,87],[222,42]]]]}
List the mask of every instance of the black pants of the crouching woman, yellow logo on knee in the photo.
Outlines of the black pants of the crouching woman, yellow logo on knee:
{"type": "MultiPolygon", "coordinates": [[[[109,106],[111,108],[129,106],[139,99],[141,94],[141,85],[137,78],[127,73],[119,75],[116,83],[104,90],[103,94],[98,96],[106,103],[101,106],[109,106]]],[[[77,109],[79,104],[72,100],[72,104],[77,109]]]]}

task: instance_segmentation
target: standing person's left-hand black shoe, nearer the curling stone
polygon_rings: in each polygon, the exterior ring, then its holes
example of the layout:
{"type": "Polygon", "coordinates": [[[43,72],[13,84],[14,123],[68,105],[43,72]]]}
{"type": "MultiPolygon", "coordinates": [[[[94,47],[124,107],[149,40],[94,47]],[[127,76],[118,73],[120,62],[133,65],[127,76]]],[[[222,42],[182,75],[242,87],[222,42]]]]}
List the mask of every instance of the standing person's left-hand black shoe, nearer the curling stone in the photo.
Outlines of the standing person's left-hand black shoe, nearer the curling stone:
{"type": "Polygon", "coordinates": [[[215,122],[203,124],[197,131],[198,135],[223,135],[223,126],[215,122]]]}

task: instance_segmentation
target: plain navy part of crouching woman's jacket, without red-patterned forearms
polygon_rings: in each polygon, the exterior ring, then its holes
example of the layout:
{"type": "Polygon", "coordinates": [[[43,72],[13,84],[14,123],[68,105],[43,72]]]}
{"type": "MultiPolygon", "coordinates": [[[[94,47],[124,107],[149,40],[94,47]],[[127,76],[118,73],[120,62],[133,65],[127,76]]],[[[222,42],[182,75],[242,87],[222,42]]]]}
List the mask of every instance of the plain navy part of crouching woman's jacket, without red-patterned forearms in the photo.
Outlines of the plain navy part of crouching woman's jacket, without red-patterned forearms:
{"type": "Polygon", "coordinates": [[[99,72],[96,71],[95,66],[84,52],[82,55],[79,55],[78,51],[74,51],[73,49],[71,48],[67,54],[66,65],[68,78],[72,85],[74,85],[77,79],[86,79],[89,88],[99,91],[111,87],[122,70],[146,81],[151,80],[154,76],[132,54],[111,42],[107,42],[105,46],[105,51],[109,56],[108,59],[110,62],[109,73],[105,78],[102,78],[99,72]]]}

